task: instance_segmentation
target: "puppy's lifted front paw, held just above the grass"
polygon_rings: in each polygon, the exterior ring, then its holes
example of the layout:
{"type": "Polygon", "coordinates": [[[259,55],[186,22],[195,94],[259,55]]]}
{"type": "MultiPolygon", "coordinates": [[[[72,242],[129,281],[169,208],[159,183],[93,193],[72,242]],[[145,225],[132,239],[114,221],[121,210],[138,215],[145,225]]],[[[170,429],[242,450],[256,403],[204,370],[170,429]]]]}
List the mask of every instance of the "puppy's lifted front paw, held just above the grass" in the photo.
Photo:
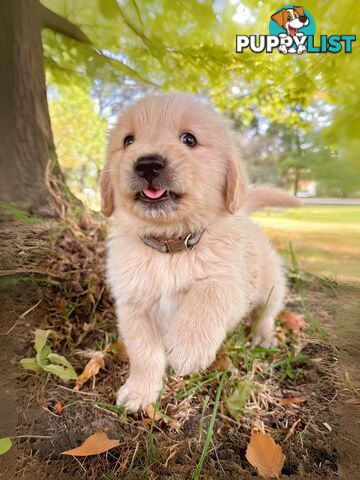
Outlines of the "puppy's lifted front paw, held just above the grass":
{"type": "Polygon", "coordinates": [[[215,360],[220,342],[209,342],[197,335],[173,335],[166,339],[167,359],[177,375],[205,370],[215,360]]]}

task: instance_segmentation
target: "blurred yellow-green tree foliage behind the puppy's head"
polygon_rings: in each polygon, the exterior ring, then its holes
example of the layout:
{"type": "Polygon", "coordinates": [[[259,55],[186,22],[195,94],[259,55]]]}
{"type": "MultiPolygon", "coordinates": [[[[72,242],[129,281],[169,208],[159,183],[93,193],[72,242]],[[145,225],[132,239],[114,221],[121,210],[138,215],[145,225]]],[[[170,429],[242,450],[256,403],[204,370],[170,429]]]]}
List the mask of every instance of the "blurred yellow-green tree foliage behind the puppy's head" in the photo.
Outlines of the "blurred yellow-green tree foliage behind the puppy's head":
{"type": "MultiPolygon", "coordinates": [[[[118,107],[158,90],[206,97],[233,118],[254,180],[291,188],[298,177],[315,180],[320,194],[360,193],[357,43],[351,54],[236,54],[236,34],[268,33],[272,13],[285,6],[273,0],[42,3],[90,40],[43,31],[58,155],[78,194],[89,197],[89,182],[96,190],[106,123],[118,107]]],[[[317,41],[320,34],[357,33],[356,0],[304,6],[317,41]]]]}

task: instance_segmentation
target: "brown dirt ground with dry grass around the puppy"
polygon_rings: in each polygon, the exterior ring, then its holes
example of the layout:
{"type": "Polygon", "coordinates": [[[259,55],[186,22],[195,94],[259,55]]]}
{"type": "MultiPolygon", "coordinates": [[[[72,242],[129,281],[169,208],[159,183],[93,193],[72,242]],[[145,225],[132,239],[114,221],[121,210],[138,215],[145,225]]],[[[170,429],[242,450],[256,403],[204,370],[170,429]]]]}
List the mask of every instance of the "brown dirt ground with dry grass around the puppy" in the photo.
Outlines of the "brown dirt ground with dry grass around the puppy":
{"type": "MultiPolygon", "coordinates": [[[[82,233],[69,230],[71,225],[28,224],[4,212],[0,217],[0,437],[15,442],[0,457],[0,478],[192,478],[219,375],[181,396],[189,381],[169,374],[160,403],[165,413],[154,423],[144,414],[126,415],[113,407],[116,388],[128,373],[118,352],[109,354],[95,388],[90,382],[80,392],[71,382],[19,368],[20,359],[33,356],[35,328],[53,331],[54,350],[65,354],[78,372],[87,353],[116,339],[103,279],[105,228],[84,221],[82,233]],[[54,408],[59,401],[61,413],[54,408]],[[98,457],[61,455],[98,430],[120,445],[98,457]]],[[[295,340],[297,355],[307,360],[296,357],[291,375],[276,373],[276,381],[260,372],[260,391],[239,420],[221,402],[201,478],[256,478],[245,459],[252,426],[263,427],[282,446],[286,462],[281,479],[358,478],[359,289],[314,279],[303,286],[306,308],[316,320],[295,340]],[[279,406],[280,397],[300,394],[307,399],[301,405],[279,406]]],[[[298,292],[289,296],[289,308],[299,309],[301,303],[298,292]]],[[[259,365],[261,370],[266,364],[259,365]]],[[[210,373],[216,375],[214,368],[210,373]]],[[[235,375],[243,374],[241,368],[235,375]]],[[[226,387],[233,381],[229,374],[226,387]]]]}

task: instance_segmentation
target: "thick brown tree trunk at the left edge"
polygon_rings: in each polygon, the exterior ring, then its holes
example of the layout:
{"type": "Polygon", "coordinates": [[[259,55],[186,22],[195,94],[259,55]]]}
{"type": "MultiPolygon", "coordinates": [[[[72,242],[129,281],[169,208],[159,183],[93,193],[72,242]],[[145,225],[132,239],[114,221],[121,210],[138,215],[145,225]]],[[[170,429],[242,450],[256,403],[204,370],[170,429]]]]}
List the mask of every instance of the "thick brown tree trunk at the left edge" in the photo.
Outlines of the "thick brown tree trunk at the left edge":
{"type": "Polygon", "coordinates": [[[56,216],[48,173],[57,165],[46,98],[38,0],[0,1],[0,199],[56,216]]]}

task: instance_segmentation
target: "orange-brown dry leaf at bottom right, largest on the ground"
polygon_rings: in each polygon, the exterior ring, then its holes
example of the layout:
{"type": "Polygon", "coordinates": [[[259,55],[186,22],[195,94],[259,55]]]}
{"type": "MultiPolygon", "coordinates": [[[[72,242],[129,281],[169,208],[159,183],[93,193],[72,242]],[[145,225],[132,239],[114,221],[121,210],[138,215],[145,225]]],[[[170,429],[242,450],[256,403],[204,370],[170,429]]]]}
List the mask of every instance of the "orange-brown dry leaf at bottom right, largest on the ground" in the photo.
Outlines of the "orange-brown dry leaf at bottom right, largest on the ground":
{"type": "Polygon", "coordinates": [[[247,461],[265,479],[278,478],[285,461],[280,445],[267,433],[257,430],[251,432],[246,450],[247,461]]]}

